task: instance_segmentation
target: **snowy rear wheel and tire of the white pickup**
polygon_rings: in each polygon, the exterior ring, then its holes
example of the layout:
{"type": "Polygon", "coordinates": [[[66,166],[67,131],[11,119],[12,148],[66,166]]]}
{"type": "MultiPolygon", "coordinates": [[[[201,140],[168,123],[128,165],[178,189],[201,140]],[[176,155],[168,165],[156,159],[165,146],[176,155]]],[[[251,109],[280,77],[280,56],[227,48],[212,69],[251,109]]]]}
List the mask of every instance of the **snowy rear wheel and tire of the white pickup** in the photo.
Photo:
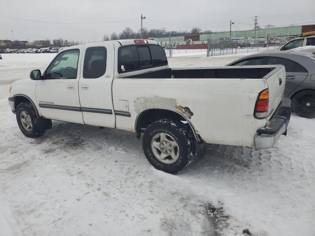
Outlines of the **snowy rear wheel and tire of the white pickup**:
{"type": "Polygon", "coordinates": [[[183,172],[197,155],[189,125],[178,120],[160,119],[150,124],[142,147],[151,165],[169,174],[183,172]]]}

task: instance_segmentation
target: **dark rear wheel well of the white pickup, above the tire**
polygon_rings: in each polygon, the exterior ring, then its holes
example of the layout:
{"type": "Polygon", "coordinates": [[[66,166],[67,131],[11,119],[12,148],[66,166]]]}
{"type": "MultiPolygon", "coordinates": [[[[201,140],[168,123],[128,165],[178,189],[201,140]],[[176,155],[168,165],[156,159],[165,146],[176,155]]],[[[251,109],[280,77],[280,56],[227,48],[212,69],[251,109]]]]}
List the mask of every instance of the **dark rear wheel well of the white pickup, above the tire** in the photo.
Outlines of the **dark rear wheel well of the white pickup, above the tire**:
{"type": "Polygon", "coordinates": [[[143,132],[143,130],[146,129],[149,126],[149,124],[162,118],[170,118],[173,120],[187,121],[189,123],[192,133],[194,134],[195,140],[197,142],[200,142],[200,139],[188,118],[185,118],[183,115],[177,112],[164,110],[164,109],[149,109],[139,114],[139,116],[136,119],[136,124],[135,124],[135,131],[137,133],[137,138],[140,139],[141,132],[143,132]]]}

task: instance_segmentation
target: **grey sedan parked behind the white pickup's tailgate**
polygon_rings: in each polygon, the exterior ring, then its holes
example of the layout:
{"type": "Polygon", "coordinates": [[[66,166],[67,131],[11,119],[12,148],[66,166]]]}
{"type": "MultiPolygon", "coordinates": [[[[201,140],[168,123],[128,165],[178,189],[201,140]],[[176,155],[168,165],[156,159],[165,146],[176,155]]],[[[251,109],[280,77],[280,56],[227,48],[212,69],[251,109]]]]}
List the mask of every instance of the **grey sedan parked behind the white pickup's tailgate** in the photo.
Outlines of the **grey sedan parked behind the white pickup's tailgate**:
{"type": "Polygon", "coordinates": [[[228,65],[282,64],[286,71],[284,97],[292,100],[292,110],[305,118],[315,118],[315,47],[253,54],[228,65]]]}

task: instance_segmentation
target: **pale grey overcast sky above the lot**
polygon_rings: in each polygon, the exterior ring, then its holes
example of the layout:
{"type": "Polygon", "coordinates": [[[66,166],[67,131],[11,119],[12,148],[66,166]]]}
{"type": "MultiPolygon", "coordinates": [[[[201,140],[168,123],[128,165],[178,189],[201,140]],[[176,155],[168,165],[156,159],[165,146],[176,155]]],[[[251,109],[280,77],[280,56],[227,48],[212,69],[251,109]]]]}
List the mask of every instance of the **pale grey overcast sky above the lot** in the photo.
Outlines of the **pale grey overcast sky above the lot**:
{"type": "MultiPolygon", "coordinates": [[[[315,0],[0,0],[0,17],[66,23],[115,22],[107,24],[49,24],[0,18],[0,39],[45,38],[96,41],[104,34],[130,27],[140,29],[140,16],[148,29],[232,30],[252,29],[253,17],[261,26],[313,22],[315,0]],[[126,21],[128,20],[128,21],[126,21]],[[157,22],[158,21],[158,22],[157,22]]],[[[309,23],[311,24],[311,23],[309,23]]]]}

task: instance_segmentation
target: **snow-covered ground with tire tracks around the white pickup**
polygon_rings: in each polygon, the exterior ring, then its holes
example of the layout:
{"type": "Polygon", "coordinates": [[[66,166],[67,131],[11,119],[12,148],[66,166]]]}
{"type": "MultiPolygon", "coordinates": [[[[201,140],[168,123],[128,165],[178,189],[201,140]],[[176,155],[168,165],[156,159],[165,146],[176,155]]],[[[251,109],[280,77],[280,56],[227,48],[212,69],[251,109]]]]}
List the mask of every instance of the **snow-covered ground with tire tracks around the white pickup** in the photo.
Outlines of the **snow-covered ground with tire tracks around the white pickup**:
{"type": "MultiPolygon", "coordinates": [[[[0,60],[0,235],[314,236],[315,119],[292,115],[275,148],[207,145],[183,174],[155,170],[134,133],[54,121],[43,137],[20,132],[11,81],[55,54],[0,60]]],[[[188,56],[174,67],[237,58],[188,56]]]]}

